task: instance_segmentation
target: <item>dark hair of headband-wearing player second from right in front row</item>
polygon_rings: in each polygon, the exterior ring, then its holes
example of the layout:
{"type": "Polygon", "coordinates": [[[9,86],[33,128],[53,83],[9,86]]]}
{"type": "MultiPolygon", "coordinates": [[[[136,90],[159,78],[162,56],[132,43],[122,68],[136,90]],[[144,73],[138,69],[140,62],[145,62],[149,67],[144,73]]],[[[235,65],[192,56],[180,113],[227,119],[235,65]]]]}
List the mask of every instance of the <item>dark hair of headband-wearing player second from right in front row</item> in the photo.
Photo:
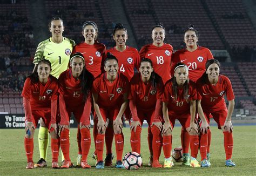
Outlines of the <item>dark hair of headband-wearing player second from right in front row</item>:
{"type": "MultiPolygon", "coordinates": [[[[187,65],[184,64],[184,63],[177,63],[174,68],[177,68],[178,66],[184,66],[187,68],[187,65]]],[[[174,72],[175,74],[175,72],[174,72]]],[[[177,80],[176,80],[176,77],[172,77],[171,79],[171,82],[172,82],[172,91],[174,93],[174,99],[173,99],[173,102],[175,102],[178,98],[178,84],[177,84],[177,80]]],[[[187,77],[187,80],[186,82],[184,83],[183,85],[183,97],[184,99],[187,101],[188,103],[188,83],[189,83],[189,80],[188,80],[188,77],[187,77]]]]}

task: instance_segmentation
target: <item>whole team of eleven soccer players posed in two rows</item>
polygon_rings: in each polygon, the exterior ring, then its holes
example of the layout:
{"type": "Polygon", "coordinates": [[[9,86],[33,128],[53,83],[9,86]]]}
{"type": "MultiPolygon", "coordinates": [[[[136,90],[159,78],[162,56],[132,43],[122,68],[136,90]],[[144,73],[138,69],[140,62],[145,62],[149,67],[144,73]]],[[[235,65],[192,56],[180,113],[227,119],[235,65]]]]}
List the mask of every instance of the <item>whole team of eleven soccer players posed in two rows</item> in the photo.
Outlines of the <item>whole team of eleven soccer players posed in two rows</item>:
{"type": "Polygon", "coordinates": [[[231,160],[231,115],[234,109],[232,86],[227,77],[219,75],[220,63],[213,59],[210,50],[197,45],[198,31],[193,25],[184,31],[186,48],[175,53],[170,44],[164,43],[165,29],[160,23],[152,28],[153,43],[143,46],[140,52],[126,45],[128,35],[122,24],[117,24],[113,31],[116,46],[107,51],[105,45],[97,41],[98,28],[94,22],[84,23],[84,42],[78,45],[62,36],[62,19],[52,18],[49,30],[52,37],[39,43],[33,60],[35,68],[26,79],[22,92],[26,118],[26,168],[46,166],[49,133],[52,168],[59,168],[59,146],[64,160],[61,167],[72,166],[69,157],[71,112],[79,124],[77,165],[90,168],[87,155],[91,145],[91,110],[95,117],[93,137],[96,151],[93,157],[96,159],[96,168],[112,165],[113,136],[116,167],[124,167],[122,116],[125,114],[129,118],[130,112],[132,151],[140,154],[143,120],[149,124],[147,140],[151,155],[149,165],[152,167],[173,166],[171,149],[175,119],[183,126],[183,165],[210,166],[210,116],[224,133],[226,166],[235,166],[231,160]],[[134,73],[134,69],[139,73],[134,73]],[[229,101],[228,109],[224,94],[229,101]],[[195,120],[196,112],[200,118],[195,120]],[[39,119],[40,159],[34,166],[33,134],[39,119]],[[159,163],[162,146],[164,165],[159,163]],[[188,154],[189,146],[191,155],[188,154]],[[198,148],[200,164],[196,159],[198,148]]]}

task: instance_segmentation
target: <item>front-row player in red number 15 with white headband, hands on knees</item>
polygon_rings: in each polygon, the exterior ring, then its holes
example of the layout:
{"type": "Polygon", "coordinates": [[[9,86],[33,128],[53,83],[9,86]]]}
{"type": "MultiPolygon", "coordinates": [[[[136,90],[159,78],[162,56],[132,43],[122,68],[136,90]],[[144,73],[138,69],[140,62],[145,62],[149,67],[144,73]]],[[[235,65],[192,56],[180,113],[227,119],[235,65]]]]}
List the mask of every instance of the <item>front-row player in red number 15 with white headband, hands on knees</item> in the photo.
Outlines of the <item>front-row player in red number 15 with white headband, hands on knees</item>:
{"type": "Polygon", "coordinates": [[[82,136],[82,161],[83,168],[90,168],[87,155],[91,146],[90,112],[91,112],[91,87],[93,75],[86,70],[84,57],[80,52],[74,53],[70,58],[71,69],[64,71],[59,76],[59,109],[60,109],[60,147],[65,161],[62,168],[72,167],[69,157],[69,121],[73,112],[82,136]]]}

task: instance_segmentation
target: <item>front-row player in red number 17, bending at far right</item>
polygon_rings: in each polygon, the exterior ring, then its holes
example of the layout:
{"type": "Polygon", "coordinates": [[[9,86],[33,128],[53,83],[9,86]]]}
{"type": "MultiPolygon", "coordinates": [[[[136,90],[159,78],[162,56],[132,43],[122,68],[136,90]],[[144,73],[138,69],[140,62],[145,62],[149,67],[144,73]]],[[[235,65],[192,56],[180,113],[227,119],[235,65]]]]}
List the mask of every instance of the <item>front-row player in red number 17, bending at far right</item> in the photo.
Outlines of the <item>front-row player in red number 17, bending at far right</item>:
{"type": "MultiPolygon", "coordinates": [[[[219,75],[220,63],[217,59],[206,62],[206,72],[197,80],[198,113],[200,118],[207,118],[210,122],[210,113],[217,122],[218,128],[224,134],[224,148],[226,152],[226,166],[235,166],[231,157],[233,151],[233,125],[231,116],[234,110],[234,93],[230,79],[219,75]],[[224,94],[227,96],[226,107],[224,94]]],[[[206,145],[207,146],[207,145],[206,145]]]]}

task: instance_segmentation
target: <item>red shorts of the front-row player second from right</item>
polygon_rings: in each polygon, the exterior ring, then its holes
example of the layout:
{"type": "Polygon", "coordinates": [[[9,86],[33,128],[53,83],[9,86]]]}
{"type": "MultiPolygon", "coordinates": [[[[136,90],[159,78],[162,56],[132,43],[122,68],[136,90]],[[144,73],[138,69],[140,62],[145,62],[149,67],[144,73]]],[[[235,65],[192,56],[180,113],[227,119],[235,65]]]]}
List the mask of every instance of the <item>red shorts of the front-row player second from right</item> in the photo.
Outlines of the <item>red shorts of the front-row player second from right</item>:
{"type": "Polygon", "coordinates": [[[188,114],[169,114],[170,124],[172,128],[175,125],[175,120],[178,119],[184,129],[190,127],[190,113],[188,114]]]}

